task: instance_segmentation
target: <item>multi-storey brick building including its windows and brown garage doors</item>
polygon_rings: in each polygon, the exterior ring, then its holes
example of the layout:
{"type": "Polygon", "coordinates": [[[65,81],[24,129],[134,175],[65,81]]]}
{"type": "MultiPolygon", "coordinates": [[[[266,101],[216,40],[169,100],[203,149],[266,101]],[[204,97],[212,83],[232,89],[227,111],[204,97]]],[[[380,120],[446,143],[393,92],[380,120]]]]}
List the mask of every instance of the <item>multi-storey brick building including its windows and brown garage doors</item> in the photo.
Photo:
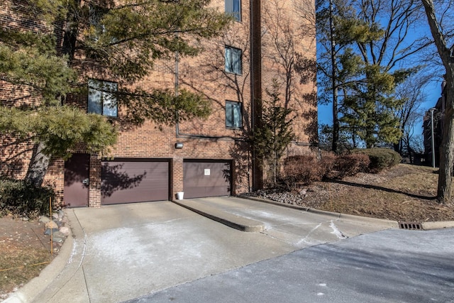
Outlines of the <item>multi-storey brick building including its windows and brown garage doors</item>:
{"type": "MultiPolygon", "coordinates": [[[[196,57],[175,53],[157,60],[138,82],[118,81],[108,70],[96,67],[96,62],[86,60],[86,54],[76,53],[77,68],[89,89],[69,97],[68,103],[106,116],[118,128],[119,137],[109,155],[87,153],[80,145],[69,160],[52,158],[45,183],[56,189],[59,202],[70,207],[100,206],[175,199],[177,192],[192,198],[260,188],[266,176],[247,138],[272,79],[282,84],[283,105],[297,115],[297,139],[288,155],[305,153],[315,145],[316,92],[315,79],[310,77],[314,75],[315,28],[314,19],[307,18],[314,16],[314,2],[299,6],[289,0],[265,2],[213,1],[211,6],[235,16],[228,31],[197,42],[204,51],[196,57]],[[123,119],[124,106],[111,106],[115,99],[108,91],[122,86],[172,89],[175,94],[181,88],[199,92],[211,101],[211,115],[172,126],[151,121],[133,126],[123,119]]],[[[35,24],[17,22],[18,17],[5,10],[1,21],[18,28],[35,24]]],[[[6,106],[33,101],[12,102],[13,93],[6,84],[2,91],[6,106]]],[[[2,175],[23,177],[33,153],[32,142],[6,135],[1,139],[2,175]]]]}

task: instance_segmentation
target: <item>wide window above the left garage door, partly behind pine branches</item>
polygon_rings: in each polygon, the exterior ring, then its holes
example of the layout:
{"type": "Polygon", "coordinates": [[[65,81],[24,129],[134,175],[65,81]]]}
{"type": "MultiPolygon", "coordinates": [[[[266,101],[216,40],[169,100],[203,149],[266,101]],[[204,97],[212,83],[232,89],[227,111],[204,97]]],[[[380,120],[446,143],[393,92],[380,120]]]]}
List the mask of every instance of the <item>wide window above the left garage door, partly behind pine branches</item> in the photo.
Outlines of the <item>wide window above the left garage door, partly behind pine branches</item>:
{"type": "Polygon", "coordinates": [[[109,117],[118,116],[118,104],[112,92],[118,91],[118,84],[102,80],[88,80],[88,112],[109,117]]]}

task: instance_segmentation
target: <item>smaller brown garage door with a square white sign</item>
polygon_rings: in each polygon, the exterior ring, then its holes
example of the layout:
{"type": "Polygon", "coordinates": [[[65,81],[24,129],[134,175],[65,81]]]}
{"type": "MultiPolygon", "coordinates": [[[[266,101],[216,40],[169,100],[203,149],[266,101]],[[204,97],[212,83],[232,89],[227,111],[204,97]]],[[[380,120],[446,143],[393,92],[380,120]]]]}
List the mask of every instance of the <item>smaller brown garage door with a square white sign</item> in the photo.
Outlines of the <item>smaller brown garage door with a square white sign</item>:
{"type": "Polygon", "coordinates": [[[185,160],[184,199],[231,194],[231,161],[185,160]]]}

